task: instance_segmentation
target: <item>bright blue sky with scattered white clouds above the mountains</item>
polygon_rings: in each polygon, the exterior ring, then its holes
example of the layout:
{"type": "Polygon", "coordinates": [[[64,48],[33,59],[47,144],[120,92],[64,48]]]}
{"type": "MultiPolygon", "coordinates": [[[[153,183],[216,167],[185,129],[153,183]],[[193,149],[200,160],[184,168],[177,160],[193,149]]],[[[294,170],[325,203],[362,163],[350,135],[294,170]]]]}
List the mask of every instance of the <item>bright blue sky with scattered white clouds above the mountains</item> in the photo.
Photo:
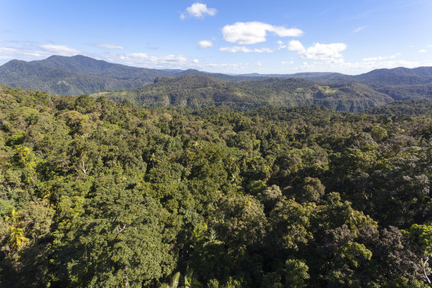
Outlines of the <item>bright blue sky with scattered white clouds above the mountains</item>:
{"type": "Polygon", "coordinates": [[[0,11],[0,65],[82,54],[236,74],[432,66],[432,0],[0,0],[0,11]]]}

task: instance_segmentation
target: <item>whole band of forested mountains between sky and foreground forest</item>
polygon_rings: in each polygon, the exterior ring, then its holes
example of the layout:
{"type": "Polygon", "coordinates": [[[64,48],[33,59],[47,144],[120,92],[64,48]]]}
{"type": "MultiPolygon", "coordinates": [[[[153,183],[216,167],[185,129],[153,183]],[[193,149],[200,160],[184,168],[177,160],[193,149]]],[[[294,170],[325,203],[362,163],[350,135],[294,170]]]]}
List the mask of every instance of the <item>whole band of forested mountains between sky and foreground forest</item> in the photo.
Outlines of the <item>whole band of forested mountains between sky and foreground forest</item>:
{"type": "Polygon", "coordinates": [[[323,104],[357,112],[394,100],[432,97],[432,67],[342,73],[227,75],[193,69],[137,68],[87,56],[12,60],[0,66],[0,83],[52,94],[105,95],[134,104],[251,109],[265,104],[323,104]],[[103,92],[119,91],[123,92],[103,92]],[[101,93],[102,92],[102,93],[101,93]]]}

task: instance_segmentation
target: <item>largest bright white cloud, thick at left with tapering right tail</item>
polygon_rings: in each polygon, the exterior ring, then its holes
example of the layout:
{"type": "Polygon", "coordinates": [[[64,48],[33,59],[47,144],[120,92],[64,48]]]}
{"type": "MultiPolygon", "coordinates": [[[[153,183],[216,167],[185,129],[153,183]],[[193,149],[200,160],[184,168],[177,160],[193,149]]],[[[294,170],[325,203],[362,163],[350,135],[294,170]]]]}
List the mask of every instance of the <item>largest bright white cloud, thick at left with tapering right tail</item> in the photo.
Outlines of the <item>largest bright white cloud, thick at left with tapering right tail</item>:
{"type": "Polygon", "coordinates": [[[303,31],[283,26],[274,26],[262,22],[236,22],[233,25],[225,25],[222,28],[222,35],[227,42],[237,44],[255,44],[265,42],[267,32],[273,32],[279,37],[299,37],[303,31]]]}

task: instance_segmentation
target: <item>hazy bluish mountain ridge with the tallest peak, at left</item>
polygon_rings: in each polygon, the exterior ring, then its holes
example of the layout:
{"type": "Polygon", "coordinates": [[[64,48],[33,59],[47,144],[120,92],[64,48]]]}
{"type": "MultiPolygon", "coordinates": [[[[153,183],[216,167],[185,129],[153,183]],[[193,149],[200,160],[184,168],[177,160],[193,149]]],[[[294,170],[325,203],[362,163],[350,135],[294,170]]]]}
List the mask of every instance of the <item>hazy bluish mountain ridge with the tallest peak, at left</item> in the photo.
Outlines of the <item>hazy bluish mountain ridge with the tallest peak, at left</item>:
{"type": "Polygon", "coordinates": [[[229,76],[188,69],[159,70],[113,64],[88,56],[50,56],[44,60],[11,60],[0,66],[0,83],[52,94],[81,95],[106,90],[126,90],[152,83],[157,77],[212,76],[222,80],[252,80],[256,77],[229,76]]]}

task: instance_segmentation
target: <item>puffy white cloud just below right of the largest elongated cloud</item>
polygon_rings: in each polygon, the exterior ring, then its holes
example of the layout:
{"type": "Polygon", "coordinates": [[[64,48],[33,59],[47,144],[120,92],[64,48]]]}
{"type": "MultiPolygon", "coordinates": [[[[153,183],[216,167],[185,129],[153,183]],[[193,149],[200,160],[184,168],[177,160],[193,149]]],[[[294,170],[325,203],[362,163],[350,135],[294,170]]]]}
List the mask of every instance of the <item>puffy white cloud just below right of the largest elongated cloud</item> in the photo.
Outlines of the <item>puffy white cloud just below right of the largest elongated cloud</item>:
{"type": "Polygon", "coordinates": [[[301,42],[292,40],[288,44],[288,49],[296,51],[301,58],[320,59],[340,63],[343,62],[343,56],[340,52],[347,49],[347,45],[344,43],[315,43],[306,49],[301,42]]]}

